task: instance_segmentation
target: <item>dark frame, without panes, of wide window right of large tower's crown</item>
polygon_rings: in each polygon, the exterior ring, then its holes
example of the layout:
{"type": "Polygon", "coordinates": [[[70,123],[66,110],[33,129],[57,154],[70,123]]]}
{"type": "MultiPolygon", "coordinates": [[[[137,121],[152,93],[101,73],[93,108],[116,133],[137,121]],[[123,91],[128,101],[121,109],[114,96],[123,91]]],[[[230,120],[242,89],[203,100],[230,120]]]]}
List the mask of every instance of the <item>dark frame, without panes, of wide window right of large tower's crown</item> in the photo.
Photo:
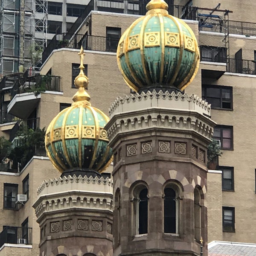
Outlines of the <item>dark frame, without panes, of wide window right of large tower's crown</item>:
{"type": "MultiPolygon", "coordinates": [[[[211,85],[211,84],[202,84],[202,99],[206,100],[208,103],[211,104],[209,99],[219,99],[220,100],[220,107],[212,107],[211,109],[217,109],[217,110],[228,110],[233,111],[233,87],[232,86],[224,86],[224,85],[211,85]],[[207,89],[219,89],[220,90],[220,98],[214,98],[207,96],[207,89]],[[225,99],[222,97],[222,90],[230,90],[230,108],[223,108],[222,105],[225,102],[225,99]]],[[[227,101],[226,101],[227,102],[227,101]]]]}

